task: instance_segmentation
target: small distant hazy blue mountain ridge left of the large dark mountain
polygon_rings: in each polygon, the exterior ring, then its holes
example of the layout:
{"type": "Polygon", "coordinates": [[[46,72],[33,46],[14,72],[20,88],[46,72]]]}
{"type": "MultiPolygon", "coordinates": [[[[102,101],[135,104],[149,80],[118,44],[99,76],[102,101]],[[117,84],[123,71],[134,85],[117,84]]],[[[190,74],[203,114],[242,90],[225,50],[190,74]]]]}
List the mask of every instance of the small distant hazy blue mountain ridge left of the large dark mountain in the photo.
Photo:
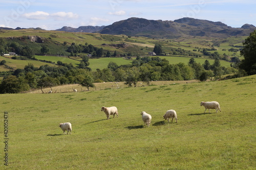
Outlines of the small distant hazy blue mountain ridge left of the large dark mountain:
{"type": "Polygon", "coordinates": [[[62,27],[61,29],[57,29],[55,31],[66,31],[66,32],[83,32],[83,33],[94,33],[97,31],[100,31],[105,26],[81,26],[78,28],[72,28],[72,27],[62,27]]]}

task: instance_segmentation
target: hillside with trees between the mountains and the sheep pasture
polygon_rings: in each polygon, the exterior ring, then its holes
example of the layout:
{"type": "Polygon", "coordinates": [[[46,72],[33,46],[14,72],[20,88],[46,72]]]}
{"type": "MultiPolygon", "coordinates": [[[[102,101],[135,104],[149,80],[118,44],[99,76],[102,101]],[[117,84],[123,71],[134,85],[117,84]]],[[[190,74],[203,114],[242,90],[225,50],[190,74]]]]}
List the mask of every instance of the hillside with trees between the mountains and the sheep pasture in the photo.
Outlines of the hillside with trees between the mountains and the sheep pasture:
{"type": "Polygon", "coordinates": [[[3,77],[0,92],[19,93],[63,84],[80,84],[89,90],[96,82],[119,81],[136,87],[138,81],[149,85],[151,81],[218,80],[222,75],[241,77],[254,73],[255,62],[251,57],[254,48],[250,47],[253,46],[254,33],[248,38],[190,36],[155,39],[98,33],[2,30],[0,53],[3,57],[0,68],[4,71],[0,72],[3,77]],[[240,51],[244,58],[240,57],[240,51]],[[5,55],[10,52],[16,55],[5,55]],[[148,52],[158,56],[148,55],[148,52]],[[48,60],[39,61],[35,54],[48,60]],[[51,55],[59,56],[60,60],[52,62],[49,59],[51,55]],[[161,56],[189,57],[190,60],[173,64],[161,56]],[[69,57],[79,64],[62,62],[62,57],[69,57]],[[131,63],[118,65],[110,62],[105,68],[91,70],[91,59],[110,57],[123,58],[131,63]],[[205,59],[205,62],[198,63],[196,58],[205,59]],[[210,64],[210,59],[215,62],[210,64]],[[230,67],[222,66],[221,60],[230,62],[230,67]],[[15,67],[9,66],[12,61],[17,61],[15,67]],[[18,61],[28,61],[28,64],[18,66],[18,61]],[[41,65],[34,66],[30,63],[32,61],[41,62],[41,65]],[[246,64],[248,62],[251,64],[246,64]]]}

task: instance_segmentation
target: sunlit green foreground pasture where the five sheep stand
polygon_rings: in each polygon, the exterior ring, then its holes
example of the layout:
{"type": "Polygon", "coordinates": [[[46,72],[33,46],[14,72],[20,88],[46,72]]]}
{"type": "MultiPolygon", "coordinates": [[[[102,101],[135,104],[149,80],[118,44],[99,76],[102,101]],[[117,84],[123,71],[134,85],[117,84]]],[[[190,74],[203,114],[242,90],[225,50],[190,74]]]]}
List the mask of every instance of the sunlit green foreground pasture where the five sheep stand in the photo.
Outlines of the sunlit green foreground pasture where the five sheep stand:
{"type": "MultiPolygon", "coordinates": [[[[2,163],[8,169],[255,169],[256,75],[225,81],[0,94],[2,163]],[[221,112],[204,113],[201,101],[221,112]],[[116,106],[109,120],[102,106],[116,106]],[[174,109],[178,123],[163,119],[174,109]],[[141,111],[152,115],[143,126],[141,111]],[[70,122],[62,135],[59,123],[70,122]]],[[[7,168],[6,168],[7,169],[7,168]]]]}

